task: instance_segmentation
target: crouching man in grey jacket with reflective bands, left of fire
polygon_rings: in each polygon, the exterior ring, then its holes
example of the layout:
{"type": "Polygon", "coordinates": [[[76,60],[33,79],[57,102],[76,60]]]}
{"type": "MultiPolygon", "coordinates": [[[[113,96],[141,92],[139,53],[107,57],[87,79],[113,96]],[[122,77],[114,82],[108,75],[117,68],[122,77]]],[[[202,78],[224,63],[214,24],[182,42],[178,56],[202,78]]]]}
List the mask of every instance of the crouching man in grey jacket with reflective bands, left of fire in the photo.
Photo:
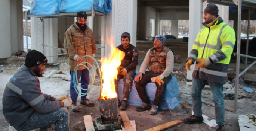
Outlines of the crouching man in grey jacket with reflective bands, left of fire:
{"type": "Polygon", "coordinates": [[[3,114],[18,131],[28,131],[55,124],[55,131],[68,131],[71,99],[43,94],[39,79],[45,70],[46,57],[39,51],[28,52],[25,65],[7,83],[3,93],[3,114]]]}

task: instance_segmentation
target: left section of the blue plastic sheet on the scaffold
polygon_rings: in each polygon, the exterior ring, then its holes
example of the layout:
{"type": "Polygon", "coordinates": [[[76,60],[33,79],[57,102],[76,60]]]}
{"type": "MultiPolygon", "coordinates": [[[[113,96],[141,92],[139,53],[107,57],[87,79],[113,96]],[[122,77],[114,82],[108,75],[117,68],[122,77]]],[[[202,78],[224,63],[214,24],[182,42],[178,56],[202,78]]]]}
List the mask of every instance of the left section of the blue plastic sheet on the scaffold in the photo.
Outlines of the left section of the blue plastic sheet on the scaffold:
{"type": "Polygon", "coordinates": [[[53,15],[58,14],[59,0],[33,0],[30,15],[53,15]]]}

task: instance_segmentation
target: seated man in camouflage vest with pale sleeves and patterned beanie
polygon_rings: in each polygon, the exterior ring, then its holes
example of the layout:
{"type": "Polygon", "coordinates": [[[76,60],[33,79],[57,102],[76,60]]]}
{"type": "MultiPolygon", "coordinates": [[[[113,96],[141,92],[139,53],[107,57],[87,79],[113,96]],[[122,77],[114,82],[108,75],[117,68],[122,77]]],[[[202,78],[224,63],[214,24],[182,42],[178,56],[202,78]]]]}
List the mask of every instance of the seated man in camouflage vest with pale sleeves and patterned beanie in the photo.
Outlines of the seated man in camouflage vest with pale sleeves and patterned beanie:
{"type": "Polygon", "coordinates": [[[170,75],[173,71],[173,52],[164,46],[166,38],[161,35],[155,36],[154,47],[148,50],[144,61],[139,69],[139,75],[135,77],[135,87],[142,100],[142,105],[136,107],[136,111],[150,110],[150,115],[157,114],[158,104],[164,95],[166,85],[172,79],[170,75]],[[149,65],[149,71],[146,68],[149,65]],[[153,79],[151,81],[151,78],[153,79]],[[151,102],[146,93],[145,85],[149,82],[155,82],[157,90],[155,93],[155,99],[151,102]]]}

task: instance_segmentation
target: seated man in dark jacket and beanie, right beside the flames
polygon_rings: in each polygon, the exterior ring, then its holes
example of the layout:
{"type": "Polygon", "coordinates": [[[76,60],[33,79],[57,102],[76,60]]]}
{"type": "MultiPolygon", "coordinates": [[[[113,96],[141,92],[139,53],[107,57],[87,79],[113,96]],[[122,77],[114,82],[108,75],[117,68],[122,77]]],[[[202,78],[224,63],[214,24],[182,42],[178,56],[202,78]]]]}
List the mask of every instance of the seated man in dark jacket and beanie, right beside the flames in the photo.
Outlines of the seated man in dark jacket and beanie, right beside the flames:
{"type": "MultiPolygon", "coordinates": [[[[124,79],[124,89],[122,95],[122,103],[118,98],[118,105],[120,106],[121,110],[127,109],[127,101],[129,99],[130,90],[133,83],[133,78],[136,74],[135,69],[138,64],[138,48],[130,44],[130,34],[124,32],[121,35],[121,45],[117,48],[125,53],[124,59],[121,61],[121,65],[118,67],[118,75],[117,79],[115,80],[115,85],[117,87],[117,83],[120,79],[124,79]]],[[[118,96],[118,88],[115,88],[117,96],[118,96]]]]}

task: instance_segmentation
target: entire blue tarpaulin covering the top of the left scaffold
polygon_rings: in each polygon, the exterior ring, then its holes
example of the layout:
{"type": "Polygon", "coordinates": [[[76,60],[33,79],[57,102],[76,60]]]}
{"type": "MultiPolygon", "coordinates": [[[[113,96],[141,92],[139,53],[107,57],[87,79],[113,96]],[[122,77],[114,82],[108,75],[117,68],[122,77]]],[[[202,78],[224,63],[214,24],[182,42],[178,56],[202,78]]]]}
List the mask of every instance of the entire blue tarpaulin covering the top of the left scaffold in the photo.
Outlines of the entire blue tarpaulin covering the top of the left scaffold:
{"type": "Polygon", "coordinates": [[[33,0],[30,15],[54,15],[61,12],[95,11],[104,14],[112,10],[111,0],[33,0]]]}

